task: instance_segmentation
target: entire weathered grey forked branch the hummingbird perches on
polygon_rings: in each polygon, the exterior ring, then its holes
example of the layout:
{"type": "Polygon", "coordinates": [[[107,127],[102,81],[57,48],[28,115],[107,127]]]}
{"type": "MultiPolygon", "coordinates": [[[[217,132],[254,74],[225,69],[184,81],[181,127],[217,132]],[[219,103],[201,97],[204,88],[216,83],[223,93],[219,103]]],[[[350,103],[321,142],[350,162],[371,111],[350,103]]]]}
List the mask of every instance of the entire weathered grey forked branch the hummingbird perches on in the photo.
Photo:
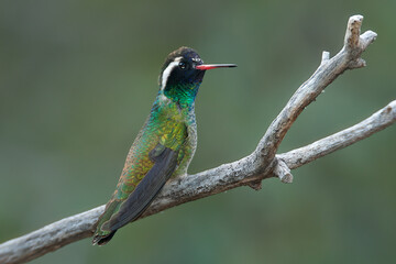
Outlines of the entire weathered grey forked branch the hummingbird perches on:
{"type": "MultiPolygon", "coordinates": [[[[251,155],[169,180],[141,218],[243,185],[260,189],[261,180],[270,177],[279,177],[284,183],[292,183],[290,169],[351,145],[396,122],[396,101],[392,101],[349,129],[276,155],[282,140],[305,107],[345,69],[365,66],[360,56],[375,40],[376,34],[367,31],[360,35],[362,20],[362,15],[350,18],[343,48],[332,58],[328,52],[323,52],[318,69],[293,95],[251,155]]],[[[97,207],[0,244],[0,263],[28,262],[74,241],[91,237],[96,220],[103,209],[105,206],[97,207]]]]}

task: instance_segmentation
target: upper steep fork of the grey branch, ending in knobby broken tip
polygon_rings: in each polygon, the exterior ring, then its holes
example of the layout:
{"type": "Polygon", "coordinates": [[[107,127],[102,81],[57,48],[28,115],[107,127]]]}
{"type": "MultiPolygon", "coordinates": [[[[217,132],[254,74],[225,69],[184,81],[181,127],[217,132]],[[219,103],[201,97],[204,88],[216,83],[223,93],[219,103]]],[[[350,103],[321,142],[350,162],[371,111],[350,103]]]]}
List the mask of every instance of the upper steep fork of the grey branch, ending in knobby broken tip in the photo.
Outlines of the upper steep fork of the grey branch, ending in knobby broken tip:
{"type": "Polygon", "coordinates": [[[329,84],[345,69],[365,65],[364,61],[360,58],[360,55],[369,44],[375,41],[376,33],[367,31],[360,36],[362,21],[362,15],[353,15],[349,19],[343,48],[331,59],[329,59],[330,54],[323,52],[319,68],[297,89],[285,108],[272,122],[253,153],[256,160],[255,164],[258,164],[261,168],[268,168],[270,163],[274,161],[282,140],[292,124],[301,111],[311,103],[329,84]]]}

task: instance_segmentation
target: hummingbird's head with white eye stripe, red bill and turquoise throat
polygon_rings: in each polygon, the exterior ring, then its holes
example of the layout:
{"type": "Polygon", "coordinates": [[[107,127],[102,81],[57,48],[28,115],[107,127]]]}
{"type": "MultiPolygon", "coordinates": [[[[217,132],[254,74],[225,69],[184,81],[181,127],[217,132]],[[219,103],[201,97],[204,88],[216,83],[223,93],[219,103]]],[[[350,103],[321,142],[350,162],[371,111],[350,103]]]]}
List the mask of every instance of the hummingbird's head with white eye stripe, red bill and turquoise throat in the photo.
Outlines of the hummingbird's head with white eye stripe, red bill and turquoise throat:
{"type": "Polygon", "coordinates": [[[237,67],[237,65],[205,65],[195,50],[179,47],[165,59],[160,75],[160,91],[176,102],[194,102],[206,70],[221,67],[237,67]]]}

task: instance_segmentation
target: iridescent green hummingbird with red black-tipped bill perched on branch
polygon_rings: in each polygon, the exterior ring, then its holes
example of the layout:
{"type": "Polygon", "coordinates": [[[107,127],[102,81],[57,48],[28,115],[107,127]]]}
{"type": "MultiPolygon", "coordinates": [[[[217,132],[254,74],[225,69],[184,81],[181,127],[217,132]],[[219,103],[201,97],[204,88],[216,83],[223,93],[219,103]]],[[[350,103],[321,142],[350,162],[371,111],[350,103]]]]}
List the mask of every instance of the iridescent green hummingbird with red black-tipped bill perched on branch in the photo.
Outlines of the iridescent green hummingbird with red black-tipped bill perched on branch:
{"type": "Polygon", "coordinates": [[[170,177],[187,174],[197,147],[195,99],[206,70],[235,64],[204,64],[190,47],[165,59],[160,90],[134,140],[117,188],[96,223],[92,244],[108,243],[116,231],[136,220],[170,177]]]}

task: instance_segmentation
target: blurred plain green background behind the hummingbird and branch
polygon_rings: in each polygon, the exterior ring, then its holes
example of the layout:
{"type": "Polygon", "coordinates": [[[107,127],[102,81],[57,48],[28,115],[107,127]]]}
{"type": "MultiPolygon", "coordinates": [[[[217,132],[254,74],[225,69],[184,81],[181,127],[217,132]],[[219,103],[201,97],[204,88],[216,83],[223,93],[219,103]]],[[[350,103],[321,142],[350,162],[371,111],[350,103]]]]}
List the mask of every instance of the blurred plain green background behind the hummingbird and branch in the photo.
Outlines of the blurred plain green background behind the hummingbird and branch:
{"type": "MultiPolygon", "coordinates": [[[[206,63],[190,173],[251,153],[348,18],[378,33],[298,118],[280,152],[396,98],[396,1],[0,2],[0,242],[105,204],[157,92],[165,56],[206,63]]],[[[294,170],[86,239],[32,263],[388,263],[396,257],[396,127],[294,170]]]]}

